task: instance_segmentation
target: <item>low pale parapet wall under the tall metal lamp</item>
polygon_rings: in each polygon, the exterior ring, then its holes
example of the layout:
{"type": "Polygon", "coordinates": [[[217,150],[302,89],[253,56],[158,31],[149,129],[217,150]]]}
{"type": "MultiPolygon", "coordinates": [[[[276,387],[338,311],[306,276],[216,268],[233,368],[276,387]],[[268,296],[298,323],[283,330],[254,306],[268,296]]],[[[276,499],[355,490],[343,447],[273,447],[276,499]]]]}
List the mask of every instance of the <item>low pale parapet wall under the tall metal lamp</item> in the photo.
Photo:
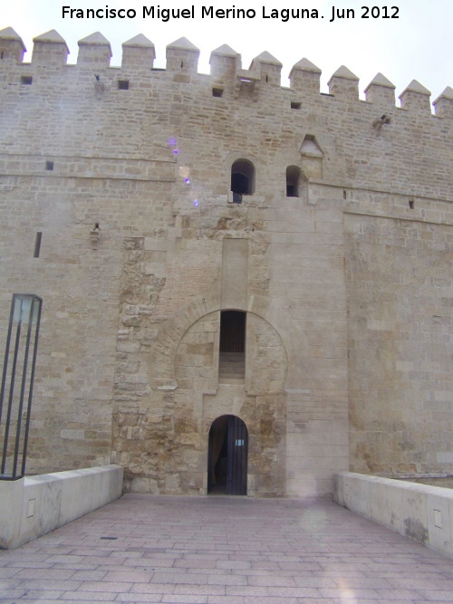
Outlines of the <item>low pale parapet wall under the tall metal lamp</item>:
{"type": "Polygon", "coordinates": [[[12,549],[70,523],[122,494],[122,467],[0,481],[0,548],[12,549]]]}

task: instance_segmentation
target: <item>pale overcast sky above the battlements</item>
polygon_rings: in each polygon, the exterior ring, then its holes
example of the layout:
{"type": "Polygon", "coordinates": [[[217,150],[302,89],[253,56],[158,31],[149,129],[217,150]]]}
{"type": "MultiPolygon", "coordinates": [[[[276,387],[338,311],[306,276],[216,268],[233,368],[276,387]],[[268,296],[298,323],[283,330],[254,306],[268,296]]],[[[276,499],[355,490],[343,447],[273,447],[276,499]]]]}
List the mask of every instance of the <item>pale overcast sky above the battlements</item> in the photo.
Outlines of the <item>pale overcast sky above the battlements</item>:
{"type": "MultiPolygon", "coordinates": [[[[101,32],[111,43],[111,65],[120,65],[121,43],[137,34],[146,35],[156,46],[155,67],[165,67],[165,47],[185,36],[201,51],[199,72],[209,72],[209,55],[226,43],[242,55],[242,66],[263,51],[283,63],[282,85],[294,63],[306,57],[323,72],[322,91],[341,65],[346,65],[360,78],[362,91],[377,72],[383,73],[396,86],[397,99],[413,79],[432,92],[434,101],[447,86],[453,87],[453,0],[1,0],[0,29],[11,26],[27,48],[24,61],[31,60],[33,38],[51,29],[63,36],[70,49],[68,62],[77,61],[77,41],[93,32],[101,32]],[[195,18],[172,19],[164,23],[157,18],[143,18],[143,6],[189,8],[195,6],[195,18]],[[69,18],[63,19],[63,5],[71,8],[132,8],[133,19],[69,18]],[[255,10],[253,19],[202,19],[202,5],[215,9],[246,8],[255,10]],[[370,8],[370,18],[362,18],[370,8]],[[380,17],[371,18],[371,8],[379,8],[380,17]],[[384,11],[383,6],[387,6],[384,11]],[[332,19],[336,10],[352,9],[349,19],[332,19]],[[395,7],[395,8],[392,8],[395,7]],[[263,18],[272,9],[308,8],[317,10],[319,18],[263,18]],[[398,13],[399,18],[382,18],[398,13]],[[323,18],[321,18],[323,15],[323,18]]],[[[377,14],[377,9],[374,14],[377,14]]],[[[399,103],[399,101],[397,101],[399,103]]]]}

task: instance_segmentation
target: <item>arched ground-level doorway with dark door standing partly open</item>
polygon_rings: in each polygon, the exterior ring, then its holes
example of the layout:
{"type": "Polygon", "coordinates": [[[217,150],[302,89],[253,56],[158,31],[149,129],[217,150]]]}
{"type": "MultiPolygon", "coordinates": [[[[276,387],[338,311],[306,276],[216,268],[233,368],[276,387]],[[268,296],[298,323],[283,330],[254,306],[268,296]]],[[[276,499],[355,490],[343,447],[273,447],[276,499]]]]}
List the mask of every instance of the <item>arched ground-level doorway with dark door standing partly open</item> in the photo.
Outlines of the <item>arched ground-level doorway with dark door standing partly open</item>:
{"type": "Polygon", "coordinates": [[[217,417],[209,430],[207,493],[247,494],[248,431],[236,416],[217,417]]]}

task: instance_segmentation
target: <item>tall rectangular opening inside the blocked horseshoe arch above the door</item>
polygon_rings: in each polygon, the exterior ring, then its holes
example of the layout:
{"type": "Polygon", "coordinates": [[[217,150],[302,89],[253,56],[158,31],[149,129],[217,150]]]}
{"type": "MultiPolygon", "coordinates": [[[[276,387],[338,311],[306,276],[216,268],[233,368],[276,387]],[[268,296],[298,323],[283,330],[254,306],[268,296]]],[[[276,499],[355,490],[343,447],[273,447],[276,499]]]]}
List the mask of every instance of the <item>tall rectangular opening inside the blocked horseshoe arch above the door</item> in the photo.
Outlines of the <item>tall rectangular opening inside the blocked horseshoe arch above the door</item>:
{"type": "Polygon", "coordinates": [[[240,383],[246,375],[246,312],[220,313],[218,380],[240,383]]]}

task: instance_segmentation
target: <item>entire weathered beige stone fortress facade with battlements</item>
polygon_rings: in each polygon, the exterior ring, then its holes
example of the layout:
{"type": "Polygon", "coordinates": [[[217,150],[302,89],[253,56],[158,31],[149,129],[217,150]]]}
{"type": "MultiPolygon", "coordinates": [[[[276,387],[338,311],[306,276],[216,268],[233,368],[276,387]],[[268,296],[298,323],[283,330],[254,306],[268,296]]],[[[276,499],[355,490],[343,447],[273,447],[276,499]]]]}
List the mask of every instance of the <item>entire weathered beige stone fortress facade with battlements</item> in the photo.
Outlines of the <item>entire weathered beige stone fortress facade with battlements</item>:
{"type": "Polygon", "coordinates": [[[396,107],[381,74],[361,101],[345,67],[320,94],[306,59],[286,89],[269,53],[221,46],[210,75],[198,53],[155,70],[139,35],[113,68],[92,34],[67,64],[52,31],[24,63],[0,32],[0,342],[12,294],[43,297],[28,471],[113,461],[128,490],[206,494],[235,416],[250,495],[451,475],[453,90],[432,114],[417,81],[396,107]]]}

